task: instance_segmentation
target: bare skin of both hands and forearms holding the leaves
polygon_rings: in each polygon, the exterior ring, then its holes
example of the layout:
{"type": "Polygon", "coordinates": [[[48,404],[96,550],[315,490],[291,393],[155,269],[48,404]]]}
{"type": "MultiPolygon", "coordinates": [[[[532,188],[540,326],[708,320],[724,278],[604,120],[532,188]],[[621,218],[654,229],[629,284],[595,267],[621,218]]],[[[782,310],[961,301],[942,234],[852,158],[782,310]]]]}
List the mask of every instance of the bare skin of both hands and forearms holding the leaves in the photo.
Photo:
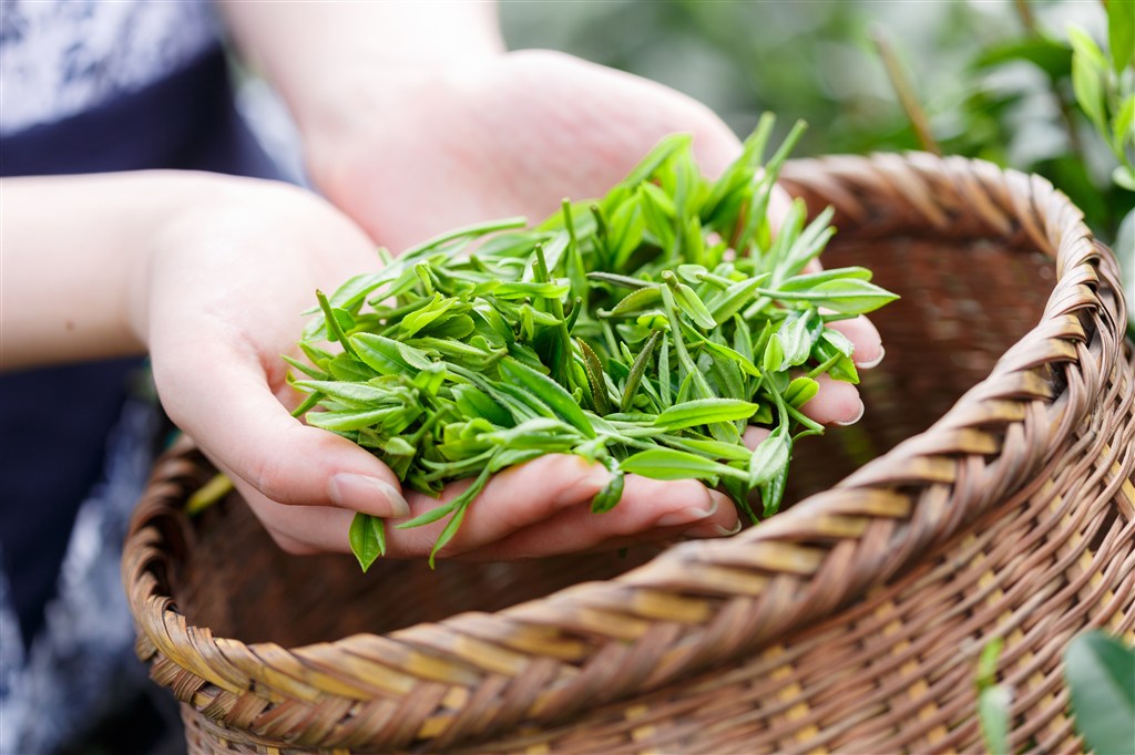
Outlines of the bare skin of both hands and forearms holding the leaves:
{"type": "MultiPolygon", "coordinates": [[[[673,132],[695,135],[709,173],[740,150],[704,105],[656,83],[560,53],[505,52],[491,5],[437,10],[226,3],[244,54],[287,101],[326,198],[188,172],[0,181],[3,368],[149,353],[169,416],[295,553],[347,551],[354,511],[400,519],[436,506],[403,498],[369,452],[289,416],[297,397],[279,355],[295,354],[313,290],[376,268],[376,243],[400,251],[597,196],[673,132]]],[[[861,366],[881,358],[867,320],[840,328],[861,366]]],[[[805,410],[852,422],[863,404],[829,381],[805,410]]],[[[591,515],[606,481],[565,456],[503,472],[442,555],[527,558],[739,527],[716,491],[633,475],[613,511],[591,515]]],[[[428,554],[442,526],[388,527],[389,555],[428,554]]]]}

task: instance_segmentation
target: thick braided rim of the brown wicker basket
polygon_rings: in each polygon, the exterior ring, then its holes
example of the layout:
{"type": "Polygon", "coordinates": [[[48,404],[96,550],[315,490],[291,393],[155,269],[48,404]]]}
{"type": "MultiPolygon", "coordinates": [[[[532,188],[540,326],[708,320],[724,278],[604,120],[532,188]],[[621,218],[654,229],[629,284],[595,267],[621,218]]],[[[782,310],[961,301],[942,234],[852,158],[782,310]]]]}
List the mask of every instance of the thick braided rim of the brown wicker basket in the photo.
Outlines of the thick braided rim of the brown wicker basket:
{"type": "MultiPolygon", "coordinates": [[[[184,491],[154,490],[152,483],[123,559],[138,655],[151,663],[165,658],[194,675],[199,688],[216,686],[205,697],[184,686],[175,693],[218,721],[227,712],[215,701],[226,693],[233,699],[257,695],[270,706],[288,698],[397,698],[418,685],[440,684],[448,694],[432,706],[419,705],[417,719],[388,727],[386,744],[452,743],[485,733],[484,721],[463,715],[484,697],[482,682],[516,677],[533,658],[543,664],[544,685],[520,707],[497,711],[496,721],[562,720],[755,648],[894,576],[994,501],[1020,495],[1051,449],[1094,408],[1092,398],[1125,338],[1116,262],[1082,213],[1037,176],[926,153],[791,160],[782,183],[792,194],[834,205],[841,231],[846,224],[881,223],[885,230],[899,223],[906,235],[922,229],[1031,244],[1056,262],[1042,317],[930,429],[758,527],[672,546],[609,580],[385,635],[281,648],[213,637],[188,625],[162,580],[167,529],[159,526],[177,514],[184,491]],[[1052,390],[1053,374],[1062,390],[1052,390]],[[974,484],[975,469],[989,485],[974,484]],[[959,493],[953,483],[962,474],[969,477],[959,493]],[[949,497],[950,507],[918,507],[919,499],[949,497]],[[738,623],[747,631],[734,631],[738,623]],[[725,641],[726,626],[730,637],[743,641],[725,641]],[[592,642],[580,643],[580,635],[592,642]],[[634,679],[606,675],[602,689],[589,686],[588,672],[620,652],[653,653],[653,672],[634,679]],[[373,661],[365,681],[337,676],[340,660],[359,658],[373,661]]],[[[303,737],[296,744],[320,745],[303,737]]]]}

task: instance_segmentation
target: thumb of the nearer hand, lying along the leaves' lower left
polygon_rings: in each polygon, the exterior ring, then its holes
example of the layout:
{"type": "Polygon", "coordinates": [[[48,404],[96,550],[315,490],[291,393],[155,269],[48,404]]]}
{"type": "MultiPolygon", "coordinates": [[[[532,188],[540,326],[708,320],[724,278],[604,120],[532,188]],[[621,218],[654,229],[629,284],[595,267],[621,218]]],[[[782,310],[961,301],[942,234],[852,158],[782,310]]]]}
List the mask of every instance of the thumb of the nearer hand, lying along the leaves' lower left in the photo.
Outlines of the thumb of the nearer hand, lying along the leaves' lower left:
{"type": "Polygon", "coordinates": [[[269,389],[254,350],[218,338],[209,332],[163,342],[153,359],[166,410],[211,458],[278,503],[382,517],[409,511],[386,465],[345,438],[293,418],[269,389]],[[201,365],[209,366],[209,380],[202,380],[201,365]]]}

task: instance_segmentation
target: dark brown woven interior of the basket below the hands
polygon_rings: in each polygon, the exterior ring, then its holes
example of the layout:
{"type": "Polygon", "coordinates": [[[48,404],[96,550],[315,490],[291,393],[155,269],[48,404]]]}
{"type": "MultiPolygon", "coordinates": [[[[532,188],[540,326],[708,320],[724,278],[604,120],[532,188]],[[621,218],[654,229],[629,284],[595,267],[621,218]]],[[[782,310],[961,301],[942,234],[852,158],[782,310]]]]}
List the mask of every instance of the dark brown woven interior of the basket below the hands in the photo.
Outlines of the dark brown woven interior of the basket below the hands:
{"type": "MultiPolygon", "coordinates": [[[[824,490],[940,418],[1040,320],[1054,269],[1040,252],[949,239],[836,237],[829,268],[859,264],[902,298],[875,313],[886,358],[863,373],[866,415],[800,443],[788,500],[824,490]]],[[[187,620],[245,643],[296,646],[382,634],[463,611],[497,611],[572,584],[608,579],[657,553],[512,563],[380,561],[279,551],[235,495],[197,521],[171,575],[187,620]]]]}

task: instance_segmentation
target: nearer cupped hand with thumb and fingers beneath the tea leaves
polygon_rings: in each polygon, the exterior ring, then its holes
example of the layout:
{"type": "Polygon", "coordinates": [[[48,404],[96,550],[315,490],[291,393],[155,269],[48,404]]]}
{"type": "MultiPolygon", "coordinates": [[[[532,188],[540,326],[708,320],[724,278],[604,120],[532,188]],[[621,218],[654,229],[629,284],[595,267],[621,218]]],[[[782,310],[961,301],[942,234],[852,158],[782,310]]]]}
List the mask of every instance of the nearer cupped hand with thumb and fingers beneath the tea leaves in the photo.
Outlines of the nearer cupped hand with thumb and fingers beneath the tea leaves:
{"type": "MultiPolygon", "coordinates": [[[[292,552],[348,551],[355,511],[395,521],[438,501],[403,495],[378,458],[291,416],[295,355],[314,289],[378,265],[373,244],[325,201],[267,181],[208,179],[154,241],[134,317],[169,416],[224,469],[292,552]],[[407,500],[409,499],[409,500],[407,500]]],[[[681,533],[721,535],[737,515],[693,482],[630,476],[615,511],[591,515],[607,472],[549,456],[498,474],[443,555],[503,559],[615,548],[681,533]]],[[[444,498],[460,494],[455,483],[444,498]]],[[[424,557],[444,523],[389,527],[392,557],[424,557]]]]}

